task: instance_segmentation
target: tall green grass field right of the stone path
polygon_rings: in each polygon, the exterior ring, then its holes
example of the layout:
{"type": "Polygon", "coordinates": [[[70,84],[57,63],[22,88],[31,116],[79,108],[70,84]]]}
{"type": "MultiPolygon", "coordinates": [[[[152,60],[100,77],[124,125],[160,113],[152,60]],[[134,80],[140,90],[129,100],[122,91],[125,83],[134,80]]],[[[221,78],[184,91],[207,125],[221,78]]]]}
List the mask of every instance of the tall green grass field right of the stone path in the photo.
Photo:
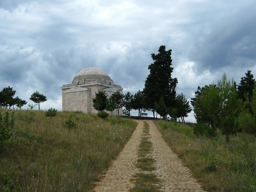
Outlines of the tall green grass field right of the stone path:
{"type": "Polygon", "coordinates": [[[165,141],[207,191],[256,191],[256,138],[246,133],[212,139],[197,137],[193,126],[155,122],[165,141]]]}

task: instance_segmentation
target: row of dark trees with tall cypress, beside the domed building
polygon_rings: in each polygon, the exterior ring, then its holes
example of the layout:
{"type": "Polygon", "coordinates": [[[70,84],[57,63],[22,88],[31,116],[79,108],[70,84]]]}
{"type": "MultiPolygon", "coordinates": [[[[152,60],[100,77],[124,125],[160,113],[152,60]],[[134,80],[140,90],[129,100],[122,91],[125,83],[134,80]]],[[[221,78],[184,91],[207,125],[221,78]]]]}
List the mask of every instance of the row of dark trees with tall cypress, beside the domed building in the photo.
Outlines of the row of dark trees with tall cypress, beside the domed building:
{"type": "Polygon", "coordinates": [[[118,91],[109,99],[104,92],[98,92],[93,98],[93,107],[98,111],[106,109],[111,113],[117,108],[118,115],[119,109],[124,107],[128,116],[131,115],[132,109],[139,111],[138,116],[142,115],[142,111],[152,111],[154,117],[157,117],[157,114],[163,118],[169,115],[173,121],[178,119],[185,122],[184,117],[188,116],[192,109],[185,95],[176,93],[178,79],[172,78],[171,54],[172,50],[166,51],[164,45],[159,47],[158,54],[151,54],[154,62],[148,66],[150,74],[142,91],[139,90],[134,95],[130,92],[124,95],[118,91]]]}

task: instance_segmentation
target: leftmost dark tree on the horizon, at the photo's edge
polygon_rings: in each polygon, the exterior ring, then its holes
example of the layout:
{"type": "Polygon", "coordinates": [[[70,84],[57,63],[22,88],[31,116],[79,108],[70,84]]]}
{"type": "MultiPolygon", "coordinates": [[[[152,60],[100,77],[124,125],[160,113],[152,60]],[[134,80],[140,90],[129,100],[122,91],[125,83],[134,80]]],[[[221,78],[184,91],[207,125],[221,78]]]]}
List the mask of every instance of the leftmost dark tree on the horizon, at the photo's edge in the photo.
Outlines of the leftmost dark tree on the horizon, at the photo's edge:
{"type": "MultiPolygon", "coordinates": [[[[15,90],[12,90],[12,87],[8,86],[5,87],[1,92],[0,92],[0,105],[7,108],[9,104],[14,105],[15,100],[13,96],[15,95],[15,90]],[[12,104],[14,102],[14,104],[12,104]]],[[[10,105],[9,105],[10,106],[10,105]]],[[[10,108],[11,108],[10,106],[10,108]]]]}

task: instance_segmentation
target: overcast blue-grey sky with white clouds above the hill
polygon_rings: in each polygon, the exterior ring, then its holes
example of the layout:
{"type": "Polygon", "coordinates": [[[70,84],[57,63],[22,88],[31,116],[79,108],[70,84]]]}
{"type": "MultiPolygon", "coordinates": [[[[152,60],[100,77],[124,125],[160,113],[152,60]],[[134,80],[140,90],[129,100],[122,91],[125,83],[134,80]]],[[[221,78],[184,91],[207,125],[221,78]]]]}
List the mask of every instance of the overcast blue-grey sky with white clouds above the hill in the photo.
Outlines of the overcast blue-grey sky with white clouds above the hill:
{"type": "Polygon", "coordinates": [[[187,99],[224,72],[238,84],[256,76],[255,10],[255,0],[0,0],[0,90],[30,103],[38,91],[42,109],[61,110],[60,87],[93,66],[134,94],[160,45],[187,99]]]}

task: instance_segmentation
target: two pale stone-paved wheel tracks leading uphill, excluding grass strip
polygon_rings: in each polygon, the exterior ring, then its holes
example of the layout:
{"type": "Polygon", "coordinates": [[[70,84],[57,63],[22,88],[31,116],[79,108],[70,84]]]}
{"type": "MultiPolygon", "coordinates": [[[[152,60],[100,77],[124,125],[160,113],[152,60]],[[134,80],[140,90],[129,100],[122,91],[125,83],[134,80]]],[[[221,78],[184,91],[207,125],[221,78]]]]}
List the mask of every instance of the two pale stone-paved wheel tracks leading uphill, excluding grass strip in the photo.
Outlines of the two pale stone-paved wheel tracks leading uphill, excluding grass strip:
{"type": "MultiPolygon", "coordinates": [[[[94,192],[129,191],[129,189],[134,187],[131,179],[134,179],[133,176],[139,172],[135,164],[138,159],[137,149],[142,137],[143,122],[142,120],[138,121],[138,126],[133,132],[131,139],[113,162],[104,179],[94,188],[94,192]]],[[[192,177],[189,169],[182,165],[178,156],[165,143],[156,125],[150,120],[146,120],[146,122],[149,124],[150,141],[153,143],[151,156],[156,160],[156,170],[153,173],[162,180],[160,183],[162,187],[159,190],[165,192],[203,191],[201,186],[192,177]]]]}

